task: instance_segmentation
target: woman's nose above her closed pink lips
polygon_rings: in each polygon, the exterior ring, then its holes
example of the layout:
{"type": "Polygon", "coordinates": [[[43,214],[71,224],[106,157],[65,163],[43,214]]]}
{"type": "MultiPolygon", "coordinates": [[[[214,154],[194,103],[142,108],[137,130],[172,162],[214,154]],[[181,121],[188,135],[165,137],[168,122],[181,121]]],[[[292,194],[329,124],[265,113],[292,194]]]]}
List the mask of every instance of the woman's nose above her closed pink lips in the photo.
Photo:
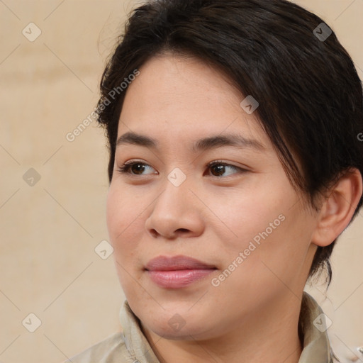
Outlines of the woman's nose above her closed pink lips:
{"type": "Polygon", "coordinates": [[[145,229],[153,238],[197,237],[203,233],[201,201],[189,190],[186,182],[174,186],[168,180],[145,220],[145,229]]]}

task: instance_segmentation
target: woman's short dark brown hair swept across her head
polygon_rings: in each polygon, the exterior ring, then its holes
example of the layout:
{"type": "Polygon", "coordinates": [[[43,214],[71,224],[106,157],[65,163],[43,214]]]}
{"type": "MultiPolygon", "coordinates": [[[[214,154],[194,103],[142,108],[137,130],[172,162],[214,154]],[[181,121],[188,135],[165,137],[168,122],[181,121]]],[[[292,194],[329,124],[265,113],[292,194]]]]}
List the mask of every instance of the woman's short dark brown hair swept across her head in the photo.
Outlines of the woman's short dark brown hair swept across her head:
{"type": "MultiPolygon", "coordinates": [[[[172,52],[212,65],[259,102],[254,115],[291,185],[318,210],[316,197],[342,175],[353,168],[363,174],[362,82],[333,30],[318,38],[321,23],[285,0],[153,0],[133,10],[108,59],[97,105],[109,181],[127,91],[120,85],[150,58],[172,52]]],[[[362,203],[361,196],[352,220],[362,203]]],[[[335,242],[317,248],[309,272],[325,267],[328,286],[335,242]]]]}

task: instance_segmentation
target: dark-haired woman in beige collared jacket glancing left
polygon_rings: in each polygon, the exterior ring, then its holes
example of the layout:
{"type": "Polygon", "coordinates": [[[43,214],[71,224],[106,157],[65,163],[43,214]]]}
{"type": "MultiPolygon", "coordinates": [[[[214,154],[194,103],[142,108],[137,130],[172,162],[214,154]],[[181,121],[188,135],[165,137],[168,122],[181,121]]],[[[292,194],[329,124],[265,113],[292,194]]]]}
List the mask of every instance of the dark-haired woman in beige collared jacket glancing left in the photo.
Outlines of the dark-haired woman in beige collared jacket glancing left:
{"type": "Polygon", "coordinates": [[[101,82],[123,333],[72,362],[333,362],[303,292],[362,206],[362,85],[283,0],[133,11],[101,82]]]}

